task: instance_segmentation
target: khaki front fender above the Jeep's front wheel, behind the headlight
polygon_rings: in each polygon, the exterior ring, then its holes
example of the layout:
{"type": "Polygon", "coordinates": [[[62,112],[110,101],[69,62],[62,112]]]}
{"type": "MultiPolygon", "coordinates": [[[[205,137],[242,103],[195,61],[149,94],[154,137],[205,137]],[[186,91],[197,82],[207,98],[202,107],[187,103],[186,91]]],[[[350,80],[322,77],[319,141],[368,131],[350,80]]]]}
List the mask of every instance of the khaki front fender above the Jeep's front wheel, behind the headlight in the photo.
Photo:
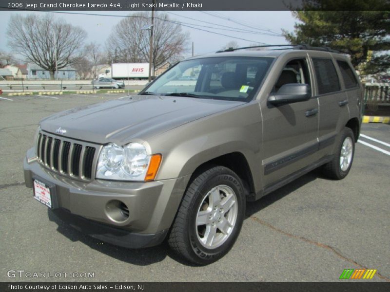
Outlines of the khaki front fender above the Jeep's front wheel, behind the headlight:
{"type": "Polygon", "coordinates": [[[153,137],[147,143],[153,153],[163,157],[156,180],[192,175],[199,165],[232,152],[244,155],[257,178],[261,168],[261,131],[258,103],[251,102],[153,137]]]}

